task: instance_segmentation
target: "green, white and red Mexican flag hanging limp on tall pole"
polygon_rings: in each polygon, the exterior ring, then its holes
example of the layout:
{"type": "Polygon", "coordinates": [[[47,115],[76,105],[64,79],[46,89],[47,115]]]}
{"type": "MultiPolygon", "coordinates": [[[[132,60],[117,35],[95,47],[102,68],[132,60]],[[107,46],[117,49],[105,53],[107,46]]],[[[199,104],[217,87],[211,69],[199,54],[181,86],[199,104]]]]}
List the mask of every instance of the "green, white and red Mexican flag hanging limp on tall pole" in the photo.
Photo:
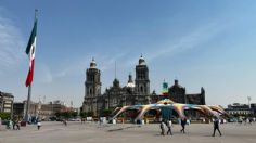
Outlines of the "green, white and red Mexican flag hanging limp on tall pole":
{"type": "Polygon", "coordinates": [[[30,86],[33,82],[33,74],[35,66],[35,52],[36,52],[36,36],[37,36],[37,20],[35,20],[33,31],[27,43],[26,54],[29,57],[29,70],[27,74],[26,87],[30,86]]]}

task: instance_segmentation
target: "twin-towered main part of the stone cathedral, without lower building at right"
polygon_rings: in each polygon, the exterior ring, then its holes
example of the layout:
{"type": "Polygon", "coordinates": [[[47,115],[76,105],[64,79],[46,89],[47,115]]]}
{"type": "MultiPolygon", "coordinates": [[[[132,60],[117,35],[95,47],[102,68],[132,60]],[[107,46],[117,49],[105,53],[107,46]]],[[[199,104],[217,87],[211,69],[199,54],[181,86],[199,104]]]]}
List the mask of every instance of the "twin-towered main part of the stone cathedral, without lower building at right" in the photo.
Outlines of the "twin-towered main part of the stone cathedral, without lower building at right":
{"type": "Polygon", "coordinates": [[[136,65],[136,79],[128,76],[128,82],[120,87],[119,80],[114,79],[113,86],[101,93],[100,70],[97,68],[94,60],[90,63],[90,68],[86,72],[85,99],[82,112],[92,112],[94,116],[101,114],[103,109],[114,109],[116,107],[135,104],[149,104],[151,100],[157,100],[154,93],[150,93],[149,68],[144,58],[139,58],[136,65]],[[154,98],[153,98],[154,96],[154,98]]]}

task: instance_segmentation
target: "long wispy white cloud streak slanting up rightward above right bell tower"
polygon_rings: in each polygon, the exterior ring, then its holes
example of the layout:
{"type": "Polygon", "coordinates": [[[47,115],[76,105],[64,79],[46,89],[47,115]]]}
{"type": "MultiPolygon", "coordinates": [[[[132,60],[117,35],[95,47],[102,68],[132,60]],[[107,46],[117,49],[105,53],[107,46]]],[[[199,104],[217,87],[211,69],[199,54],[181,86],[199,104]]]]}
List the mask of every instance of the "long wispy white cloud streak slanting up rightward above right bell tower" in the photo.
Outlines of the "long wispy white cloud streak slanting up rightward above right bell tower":
{"type": "MultiPolygon", "coordinates": [[[[162,56],[172,56],[183,53],[190,49],[195,49],[200,44],[212,40],[225,28],[225,25],[220,26],[218,22],[202,25],[203,26],[200,26],[199,28],[194,28],[193,31],[185,34],[180,38],[176,38],[178,39],[176,41],[170,39],[165,43],[161,43],[157,48],[155,48],[155,46],[149,48],[153,50],[142,52],[145,62],[150,63],[151,61],[155,61],[156,58],[162,56]]],[[[138,64],[139,57],[139,53],[129,56],[129,58],[126,58],[126,61],[124,62],[124,66],[131,67],[135,64],[138,64]]]]}

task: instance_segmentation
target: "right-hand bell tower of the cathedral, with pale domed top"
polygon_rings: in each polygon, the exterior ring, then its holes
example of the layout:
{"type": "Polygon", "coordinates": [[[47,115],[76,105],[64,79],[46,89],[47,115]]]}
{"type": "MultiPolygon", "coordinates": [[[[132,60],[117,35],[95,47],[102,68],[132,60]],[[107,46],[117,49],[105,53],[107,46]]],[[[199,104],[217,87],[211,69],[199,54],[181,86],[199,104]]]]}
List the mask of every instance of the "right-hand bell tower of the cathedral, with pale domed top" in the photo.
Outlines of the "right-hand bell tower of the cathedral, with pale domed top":
{"type": "Polygon", "coordinates": [[[139,58],[139,64],[136,66],[136,90],[138,94],[150,94],[149,68],[142,55],[139,58]]]}

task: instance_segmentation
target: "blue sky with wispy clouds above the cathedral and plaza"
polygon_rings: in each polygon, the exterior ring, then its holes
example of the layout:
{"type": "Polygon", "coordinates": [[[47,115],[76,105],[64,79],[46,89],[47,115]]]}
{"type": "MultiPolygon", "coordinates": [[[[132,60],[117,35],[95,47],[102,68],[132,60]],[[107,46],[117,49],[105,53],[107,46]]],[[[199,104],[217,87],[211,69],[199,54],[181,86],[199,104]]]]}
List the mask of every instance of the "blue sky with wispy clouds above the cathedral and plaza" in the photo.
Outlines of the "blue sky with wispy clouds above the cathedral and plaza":
{"type": "Polygon", "coordinates": [[[178,78],[187,93],[206,90],[206,103],[256,102],[254,0],[23,0],[0,1],[0,90],[25,100],[25,48],[38,14],[33,100],[80,106],[92,57],[102,92],[117,66],[121,86],[142,53],[151,91],[178,78]]]}

